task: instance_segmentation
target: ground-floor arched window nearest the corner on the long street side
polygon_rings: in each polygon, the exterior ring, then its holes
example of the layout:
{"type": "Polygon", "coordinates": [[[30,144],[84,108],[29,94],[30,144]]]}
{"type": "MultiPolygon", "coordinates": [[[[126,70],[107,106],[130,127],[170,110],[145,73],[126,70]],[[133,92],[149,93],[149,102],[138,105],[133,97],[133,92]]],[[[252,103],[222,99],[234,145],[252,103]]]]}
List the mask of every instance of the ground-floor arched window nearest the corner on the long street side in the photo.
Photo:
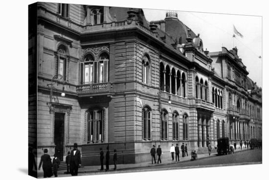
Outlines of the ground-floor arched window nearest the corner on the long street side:
{"type": "Polygon", "coordinates": [[[151,139],[151,109],[145,107],[142,110],[142,119],[143,119],[143,139],[151,139]]]}

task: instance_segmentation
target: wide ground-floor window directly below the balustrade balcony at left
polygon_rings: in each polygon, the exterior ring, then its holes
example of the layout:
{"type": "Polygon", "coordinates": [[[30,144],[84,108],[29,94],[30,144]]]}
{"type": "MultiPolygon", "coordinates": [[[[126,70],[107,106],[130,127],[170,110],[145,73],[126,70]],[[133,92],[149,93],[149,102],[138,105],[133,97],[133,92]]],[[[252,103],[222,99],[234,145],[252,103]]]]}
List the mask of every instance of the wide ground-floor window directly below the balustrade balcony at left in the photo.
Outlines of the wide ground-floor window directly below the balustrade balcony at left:
{"type": "Polygon", "coordinates": [[[104,110],[90,110],[86,112],[87,143],[104,141],[104,110]]]}

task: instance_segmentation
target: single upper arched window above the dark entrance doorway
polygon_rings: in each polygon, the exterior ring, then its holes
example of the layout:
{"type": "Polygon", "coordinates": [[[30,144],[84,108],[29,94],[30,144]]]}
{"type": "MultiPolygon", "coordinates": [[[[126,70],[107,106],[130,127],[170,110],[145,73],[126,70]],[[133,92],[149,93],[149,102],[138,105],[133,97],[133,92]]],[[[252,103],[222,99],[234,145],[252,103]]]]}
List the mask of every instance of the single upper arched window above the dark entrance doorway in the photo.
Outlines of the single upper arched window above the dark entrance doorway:
{"type": "Polygon", "coordinates": [[[67,48],[65,45],[59,45],[57,54],[57,73],[63,76],[63,80],[67,78],[67,48]]]}

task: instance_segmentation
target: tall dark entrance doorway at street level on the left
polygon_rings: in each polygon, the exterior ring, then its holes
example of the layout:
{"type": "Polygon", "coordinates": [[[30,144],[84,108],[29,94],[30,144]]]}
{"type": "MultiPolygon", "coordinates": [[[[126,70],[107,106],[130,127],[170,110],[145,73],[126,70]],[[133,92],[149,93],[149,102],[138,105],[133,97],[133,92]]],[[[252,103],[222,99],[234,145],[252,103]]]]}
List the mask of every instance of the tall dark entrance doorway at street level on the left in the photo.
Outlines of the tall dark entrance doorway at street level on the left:
{"type": "Polygon", "coordinates": [[[65,113],[55,112],[54,117],[54,144],[55,154],[63,161],[64,158],[64,127],[65,113]]]}

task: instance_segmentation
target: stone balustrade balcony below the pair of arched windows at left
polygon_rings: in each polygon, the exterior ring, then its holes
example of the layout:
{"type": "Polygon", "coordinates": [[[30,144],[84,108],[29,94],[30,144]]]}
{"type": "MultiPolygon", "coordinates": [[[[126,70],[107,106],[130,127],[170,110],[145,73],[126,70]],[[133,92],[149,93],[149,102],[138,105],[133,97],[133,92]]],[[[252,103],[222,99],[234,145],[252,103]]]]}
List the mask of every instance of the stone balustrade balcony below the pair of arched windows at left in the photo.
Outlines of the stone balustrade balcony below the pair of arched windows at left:
{"type": "Polygon", "coordinates": [[[106,95],[112,91],[112,83],[95,83],[77,86],[79,96],[106,95]]]}

